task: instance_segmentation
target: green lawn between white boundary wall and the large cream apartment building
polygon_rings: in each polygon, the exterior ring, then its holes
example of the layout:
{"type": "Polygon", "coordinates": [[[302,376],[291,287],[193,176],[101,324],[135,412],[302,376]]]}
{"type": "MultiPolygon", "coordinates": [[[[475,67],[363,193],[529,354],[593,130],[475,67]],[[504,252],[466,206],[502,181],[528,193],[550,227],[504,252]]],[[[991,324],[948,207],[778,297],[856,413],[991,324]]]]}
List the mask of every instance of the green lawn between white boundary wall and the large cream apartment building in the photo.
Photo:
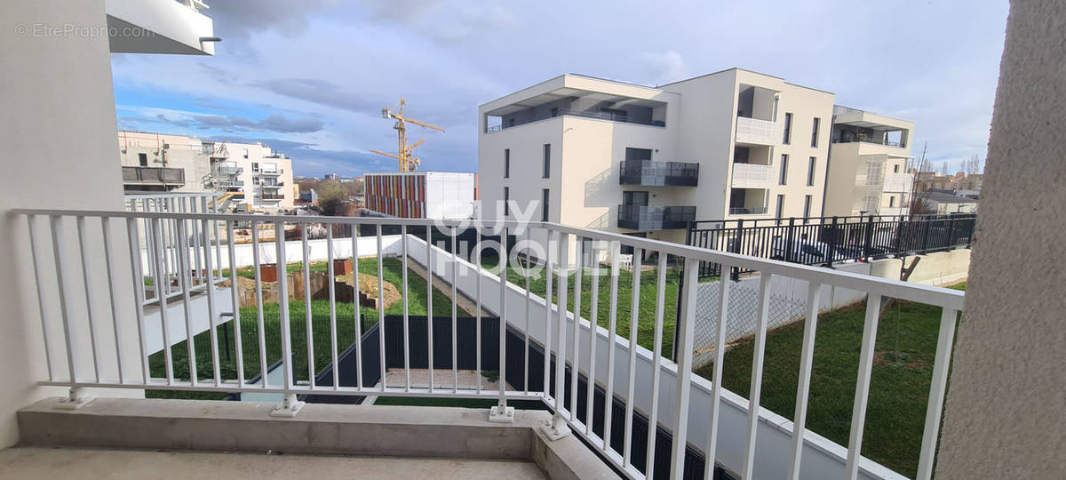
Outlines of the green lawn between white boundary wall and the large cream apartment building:
{"type": "MultiPolygon", "coordinates": [[[[499,265],[496,256],[482,258],[482,266],[494,268],[499,265]]],[[[581,274],[581,317],[588,319],[592,317],[592,270],[584,269],[581,274]]],[[[567,275],[567,310],[574,311],[574,283],[576,272],[567,275]]],[[[507,268],[507,281],[519,287],[526,287],[526,277],[514,267],[507,268]]],[[[540,269],[536,275],[530,278],[530,291],[533,294],[544,297],[547,289],[547,272],[540,269]]],[[[637,309],[637,335],[636,342],[642,347],[651,350],[655,340],[656,320],[656,299],[658,297],[657,283],[658,272],[656,270],[641,273],[640,307],[637,309]]],[[[677,293],[680,283],[680,269],[668,268],[666,270],[666,299],[663,303],[663,356],[673,357],[674,352],[674,322],[677,317],[677,293]]],[[[628,270],[618,270],[618,303],[616,329],[619,337],[629,338],[629,329],[632,311],[633,273],[628,270]]],[[[559,300],[559,275],[552,274],[552,301],[559,300]]],[[[611,322],[611,272],[610,268],[600,271],[599,298],[596,311],[597,323],[607,329],[611,322]]]]}

